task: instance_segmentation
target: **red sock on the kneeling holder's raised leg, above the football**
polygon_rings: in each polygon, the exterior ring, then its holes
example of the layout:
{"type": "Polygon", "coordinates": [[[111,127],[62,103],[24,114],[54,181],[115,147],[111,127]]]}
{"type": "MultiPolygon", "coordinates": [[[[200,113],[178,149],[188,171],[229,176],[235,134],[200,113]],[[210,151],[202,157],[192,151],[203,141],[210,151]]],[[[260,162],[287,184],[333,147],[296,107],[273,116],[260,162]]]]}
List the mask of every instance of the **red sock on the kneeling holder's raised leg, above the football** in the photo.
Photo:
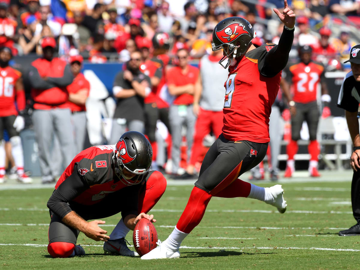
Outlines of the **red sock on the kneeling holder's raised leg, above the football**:
{"type": "Polygon", "coordinates": [[[139,213],[147,213],[159,201],[166,189],[166,179],[161,172],[154,171],[148,181],[146,188],[139,194],[139,213]]]}

